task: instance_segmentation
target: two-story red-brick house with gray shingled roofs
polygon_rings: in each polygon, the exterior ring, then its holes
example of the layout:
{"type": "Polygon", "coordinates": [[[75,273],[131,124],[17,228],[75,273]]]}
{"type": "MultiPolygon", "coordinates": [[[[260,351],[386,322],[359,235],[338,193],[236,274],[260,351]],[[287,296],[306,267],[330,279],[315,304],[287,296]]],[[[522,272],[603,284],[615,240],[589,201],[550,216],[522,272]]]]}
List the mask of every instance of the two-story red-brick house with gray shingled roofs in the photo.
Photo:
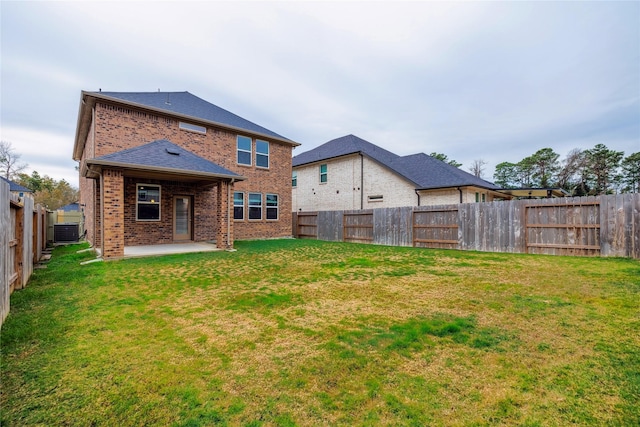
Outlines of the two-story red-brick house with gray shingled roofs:
{"type": "Polygon", "coordinates": [[[87,240],[109,259],[290,236],[297,145],[189,92],[83,91],[73,158],[87,240]]]}

